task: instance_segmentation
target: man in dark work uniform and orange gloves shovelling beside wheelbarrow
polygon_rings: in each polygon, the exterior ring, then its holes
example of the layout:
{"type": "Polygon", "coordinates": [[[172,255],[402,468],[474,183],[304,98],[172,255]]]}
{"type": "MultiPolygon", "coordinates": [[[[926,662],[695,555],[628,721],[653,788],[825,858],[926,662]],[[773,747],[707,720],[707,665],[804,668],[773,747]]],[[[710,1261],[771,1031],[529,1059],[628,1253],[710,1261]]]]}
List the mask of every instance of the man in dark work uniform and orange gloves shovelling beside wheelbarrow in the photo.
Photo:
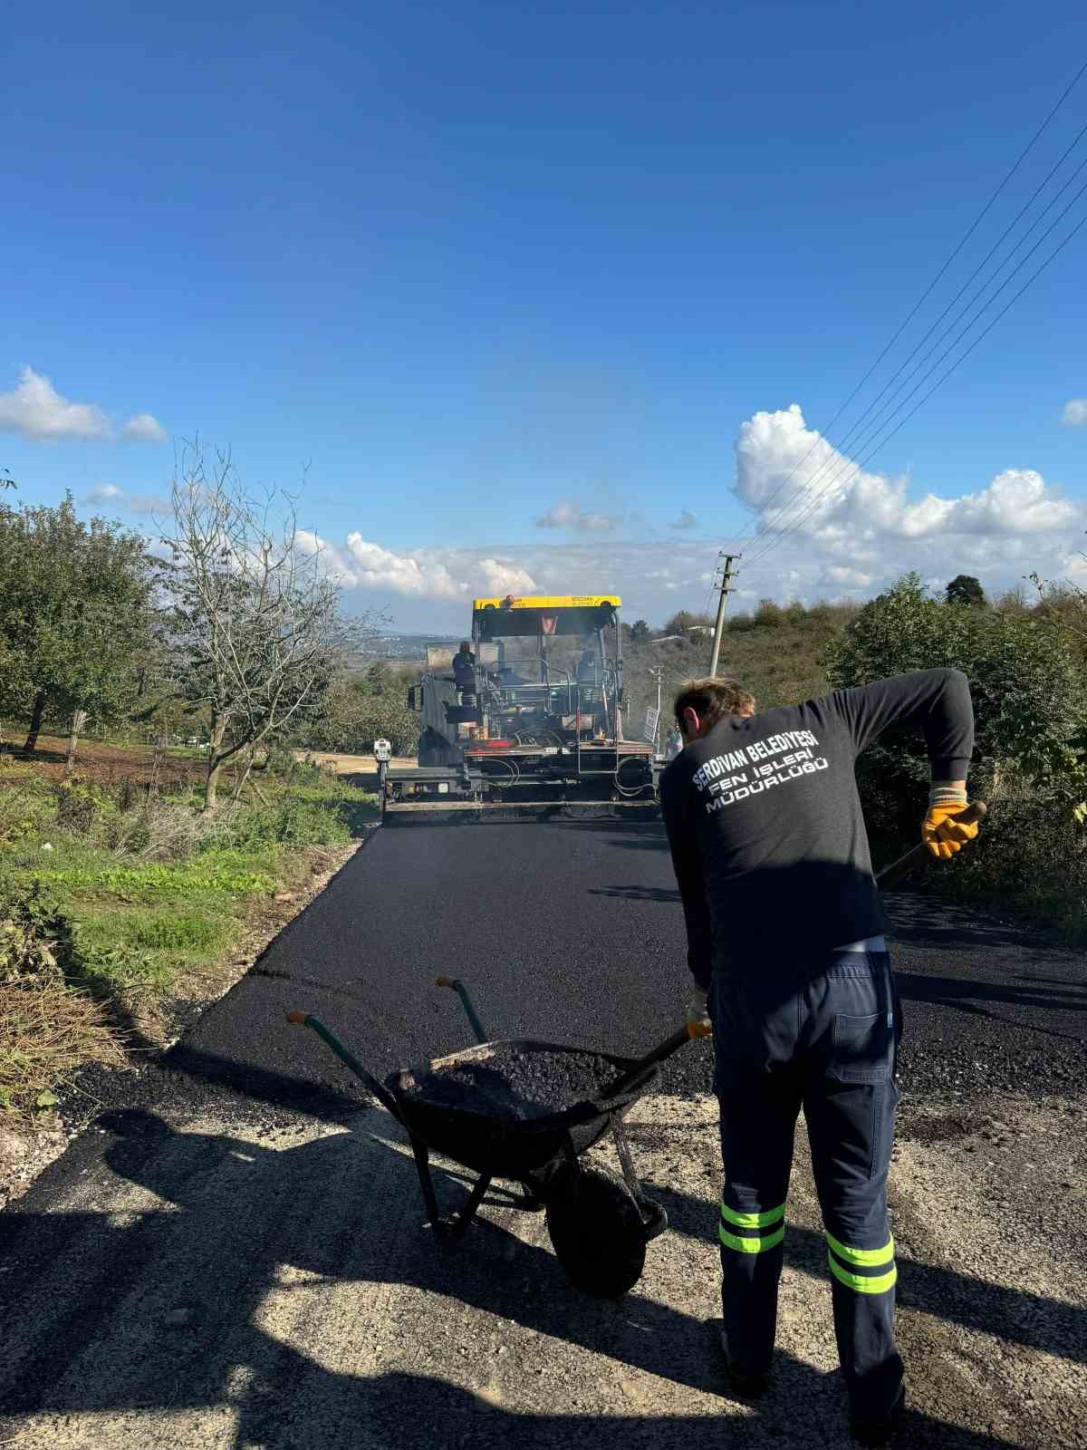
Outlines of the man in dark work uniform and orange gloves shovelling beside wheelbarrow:
{"type": "Polygon", "coordinates": [[[970,687],[958,670],[925,670],[755,715],[735,680],[704,679],[680,692],[675,719],[684,750],[661,806],[696,982],[688,1018],[713,1024],[725,1362],[739,1393],[767,1388],[803,1106],[852,1431],[883,1444],[904,1404],[887,1219],[901,1012],[854,761],[890,725],[917,726],[932,767],[922,835],[952,856],[977,834],[955,819],[970,687]]]}

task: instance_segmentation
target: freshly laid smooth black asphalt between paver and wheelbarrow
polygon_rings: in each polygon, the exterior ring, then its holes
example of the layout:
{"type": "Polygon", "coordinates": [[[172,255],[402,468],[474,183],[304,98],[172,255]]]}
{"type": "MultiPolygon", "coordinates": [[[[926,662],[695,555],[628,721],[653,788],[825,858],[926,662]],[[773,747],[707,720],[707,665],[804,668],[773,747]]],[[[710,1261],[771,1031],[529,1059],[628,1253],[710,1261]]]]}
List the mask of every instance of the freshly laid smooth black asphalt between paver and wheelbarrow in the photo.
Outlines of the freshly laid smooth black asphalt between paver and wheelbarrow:
{"type": "MultiPolygon", "coordinates": [[[[1083,1090],[1080,954],[932,892],[893,892],[887,905],[907,1102],[1083,1090]]],[[[472,1041],[457,996],[435,986],[439,973],[470,985],[494,1038],[648,1051],[681,1021],[690,986],[662,828],[561,819],[377,831],[162,1069],[143,1073],[141,1095],[226,1086],[265,1103],[316,1102],[328,1089],[358,1096],[348,1070],[286,1012],[320,1016],[386,1076],[472,1041]]],[[[707,1090],[710,1070],[707,1045],[691,1044],[662,1086],[707,1090]]]]}

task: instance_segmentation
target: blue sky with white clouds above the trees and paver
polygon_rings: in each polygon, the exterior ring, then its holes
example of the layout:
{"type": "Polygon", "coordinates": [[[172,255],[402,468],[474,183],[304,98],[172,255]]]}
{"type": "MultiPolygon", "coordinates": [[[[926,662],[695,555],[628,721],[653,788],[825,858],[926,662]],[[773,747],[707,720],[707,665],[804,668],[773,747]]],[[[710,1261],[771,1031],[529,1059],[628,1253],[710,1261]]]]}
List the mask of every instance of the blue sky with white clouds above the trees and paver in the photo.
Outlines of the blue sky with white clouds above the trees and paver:
{"type": "MultiPolygon", "coordinates": [[[[810,431],[1087,58],[1048,0],[158,10],[9,17],[0,464],[135,526],[171,441],[254,483],[309,464],[349,602],[404,628],[504,580],[700,608],[783,480],[800,518],[810,431]]],[[[1084,125],[1087,78],[909,345],[1084,125]]],[[[1075,567],[1084,257],[1087,229],[752,597],[1075,567]]]]}

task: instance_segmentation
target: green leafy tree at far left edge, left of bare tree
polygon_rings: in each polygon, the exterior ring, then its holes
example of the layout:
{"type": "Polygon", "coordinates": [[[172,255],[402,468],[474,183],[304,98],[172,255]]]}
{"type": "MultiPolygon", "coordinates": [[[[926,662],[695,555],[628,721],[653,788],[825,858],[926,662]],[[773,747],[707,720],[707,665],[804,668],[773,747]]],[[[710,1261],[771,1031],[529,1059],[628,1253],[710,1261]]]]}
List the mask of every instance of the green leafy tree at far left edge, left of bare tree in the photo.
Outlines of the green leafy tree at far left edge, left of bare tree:
{"type": "Polygon", "coordinates": [[[133,655],[146,647],[158,563],[119,523],[57,508],[0,506],[0,699],[29,715],[23,754],[42,722],[122,718],[136,693],[133,655]]]}

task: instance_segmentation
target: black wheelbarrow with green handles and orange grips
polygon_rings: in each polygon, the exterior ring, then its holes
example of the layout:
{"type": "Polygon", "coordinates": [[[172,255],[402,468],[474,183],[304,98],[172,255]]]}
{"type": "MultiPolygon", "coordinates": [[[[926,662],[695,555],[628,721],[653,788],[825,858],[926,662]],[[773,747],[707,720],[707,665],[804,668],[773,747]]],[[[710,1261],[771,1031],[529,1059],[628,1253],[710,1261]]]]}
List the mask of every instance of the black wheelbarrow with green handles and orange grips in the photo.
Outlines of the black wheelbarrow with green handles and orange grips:
{"type": "Polygon", "coordinates": [[[654,1085],[659,1063],[691,1037],[703,1035],[701,1030],[684,1025],[641,1058],[528,1038],[488,1041],[464,983],[438,977],[438,986],[452,987],[461,998],[478,1045],[420,1067],[399,1069],[384,1082],[367,1072],[319,1018],[288,1012],[287,1021],[312,1028],[404,1127],[429,1222],[441,1243],[461,1241],[493,1179],[501,1179],[520,1189],[504,1193],[503,1206],[544,1211],[555,1256],[570,1282],[597,1298],[620,1298],[642,1275],[646,1244],[668,1227],[664,1208],[641,1190],[623,1116],[654,1085]],[[452,1102],[448,1095],[433,1090],[449,1073],[461,1080],[472,1074],[497,1076],[488,1064],[510,1051],[529,1058],[545,1053],[552,1058],[557,1054],[571,1060],[593,1058],[597,1076],[604,1080],[591,1096],[530,1118],[503,1111],[486,1093],[467,1092],[464,1101],[452,1102]],[[588,1148],[609,1131],[622,1179],[583,1161],[588,1148]],[[464,1204],[451,1215],[442,1215],[438,1206],[432,1153],[477,1174],[464,1204]]]}

